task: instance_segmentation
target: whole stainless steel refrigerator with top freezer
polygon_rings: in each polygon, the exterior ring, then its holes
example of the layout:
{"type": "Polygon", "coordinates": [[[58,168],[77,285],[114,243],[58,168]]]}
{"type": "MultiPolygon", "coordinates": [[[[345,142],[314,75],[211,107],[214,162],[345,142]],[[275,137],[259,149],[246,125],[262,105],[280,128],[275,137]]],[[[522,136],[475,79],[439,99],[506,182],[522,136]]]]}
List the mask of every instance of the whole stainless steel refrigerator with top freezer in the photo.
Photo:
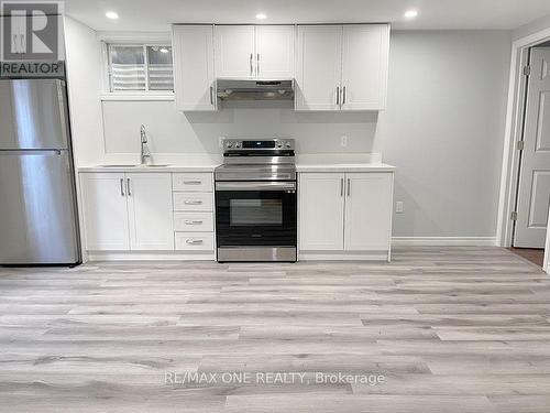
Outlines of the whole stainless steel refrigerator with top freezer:
{"type": "Polygon", "coordinates": [[[80,261],[65,83],[0,80],[0,265],[80,261]]]}

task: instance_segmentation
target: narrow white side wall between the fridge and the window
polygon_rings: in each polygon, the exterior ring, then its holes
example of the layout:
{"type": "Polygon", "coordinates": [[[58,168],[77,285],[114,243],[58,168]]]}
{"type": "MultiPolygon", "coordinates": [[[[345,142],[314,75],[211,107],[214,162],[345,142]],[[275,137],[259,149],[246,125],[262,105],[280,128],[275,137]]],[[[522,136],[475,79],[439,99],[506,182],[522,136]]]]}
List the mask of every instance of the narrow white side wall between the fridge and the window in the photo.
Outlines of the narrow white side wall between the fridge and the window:
{"type": "Polygon", "coordinates": [[[76,165],[102,157],[101,55],[96,32],[65,17],[67,89],[76,165]]]}

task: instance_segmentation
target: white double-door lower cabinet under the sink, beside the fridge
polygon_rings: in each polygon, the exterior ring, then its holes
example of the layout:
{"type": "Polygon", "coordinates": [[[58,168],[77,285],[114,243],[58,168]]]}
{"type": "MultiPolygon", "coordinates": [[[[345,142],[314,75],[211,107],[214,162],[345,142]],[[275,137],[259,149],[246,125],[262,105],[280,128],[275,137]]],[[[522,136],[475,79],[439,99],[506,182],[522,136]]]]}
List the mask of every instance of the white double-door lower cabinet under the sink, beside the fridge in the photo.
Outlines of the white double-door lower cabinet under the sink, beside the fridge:
{"type": "Polygon", "coordinates": [[[80,174],[86,249],[173,250],[169,173],[80,174]]]}

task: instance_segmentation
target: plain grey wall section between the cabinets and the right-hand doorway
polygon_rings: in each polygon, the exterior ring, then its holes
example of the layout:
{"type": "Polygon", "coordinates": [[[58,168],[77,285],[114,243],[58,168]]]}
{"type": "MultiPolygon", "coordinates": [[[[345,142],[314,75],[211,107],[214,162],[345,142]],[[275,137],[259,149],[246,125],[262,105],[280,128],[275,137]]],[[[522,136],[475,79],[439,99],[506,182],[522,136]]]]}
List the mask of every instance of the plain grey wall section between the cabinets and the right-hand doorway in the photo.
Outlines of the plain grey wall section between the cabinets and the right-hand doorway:
{"type": "Polygon", "coordinates": [[[509,32],[393,34],[376,141],[405,203],[394,236],[495,236],[509,58],[509,32]]]}

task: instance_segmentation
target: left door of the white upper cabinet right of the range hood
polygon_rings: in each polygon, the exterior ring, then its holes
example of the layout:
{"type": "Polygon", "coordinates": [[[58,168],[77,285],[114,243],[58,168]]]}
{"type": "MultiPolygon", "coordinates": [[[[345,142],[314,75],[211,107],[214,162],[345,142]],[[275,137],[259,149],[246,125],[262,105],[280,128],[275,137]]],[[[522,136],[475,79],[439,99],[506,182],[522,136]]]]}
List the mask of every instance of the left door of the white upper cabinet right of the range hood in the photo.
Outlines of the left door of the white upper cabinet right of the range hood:
{"type": "Polygon", "coordinates": [[[296,110],[339,110],[342,26],[298,26],[296,110]]]}

